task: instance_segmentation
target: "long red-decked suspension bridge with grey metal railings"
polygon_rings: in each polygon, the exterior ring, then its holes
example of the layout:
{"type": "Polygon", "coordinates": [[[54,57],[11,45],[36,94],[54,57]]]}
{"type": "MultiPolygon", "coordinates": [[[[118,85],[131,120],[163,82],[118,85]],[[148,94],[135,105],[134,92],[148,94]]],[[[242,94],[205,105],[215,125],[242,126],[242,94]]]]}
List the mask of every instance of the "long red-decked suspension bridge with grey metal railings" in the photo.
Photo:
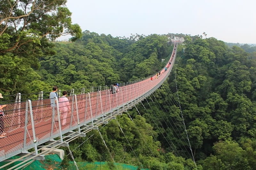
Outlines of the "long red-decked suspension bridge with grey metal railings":
{"type": "MultiPolygon", "coordinates": [[[[22,161],[11,169],[26,166],[34,160],[44,160],[44,155],[68,146],[68,143],[78,137],[85,137],[92,129],[98,129],[102,124],[115,119],[117,115],[126,112],[137,103],[145,100],[156,91],[168,78],[176,58],[175,43],[171,57],[162,69],[161,76],[154,75],[132,83],[120,84],[119,91],[112,94],[110,89],[97,92],[84,91],[68,98],[71,111],[67,123],[62,125],[59,101],[56,97],[56,109],[51,107],[50,99],[44,99],[43,93],[38,100],[26,100],[10,103],[4,109],[4,133],[7,137],[0,139],[0,162],[8,161],[0,169],[15,161],[22,161]],[[58,121],[54,118],[58,117],[58,121]],[[33,151],[28,152],[28,150],[33,151]],[[18,159],[11,157],[19,155],[18,159]]],[[[137,108],[136,108],[137,109],[137,108]]],[[[139,112],[139,111],[138,111],[139,112]]]]}

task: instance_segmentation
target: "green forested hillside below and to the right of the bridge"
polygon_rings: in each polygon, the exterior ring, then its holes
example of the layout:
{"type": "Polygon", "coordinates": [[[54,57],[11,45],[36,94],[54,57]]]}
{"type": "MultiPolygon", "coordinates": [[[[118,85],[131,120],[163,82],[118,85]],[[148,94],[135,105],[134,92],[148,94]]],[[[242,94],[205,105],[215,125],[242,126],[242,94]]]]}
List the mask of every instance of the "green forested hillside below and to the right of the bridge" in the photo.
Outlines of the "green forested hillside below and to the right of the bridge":
{"type": "Polygon", "coordinates": [[[254,169],[256,61],[250,55],[214,38],[186,36],[164,85],[137,108],[101,127],[108,148],[92,131],[73,143],[73,149],[79,146],[75,158],[114,159],[151,169],[254,169]]]}

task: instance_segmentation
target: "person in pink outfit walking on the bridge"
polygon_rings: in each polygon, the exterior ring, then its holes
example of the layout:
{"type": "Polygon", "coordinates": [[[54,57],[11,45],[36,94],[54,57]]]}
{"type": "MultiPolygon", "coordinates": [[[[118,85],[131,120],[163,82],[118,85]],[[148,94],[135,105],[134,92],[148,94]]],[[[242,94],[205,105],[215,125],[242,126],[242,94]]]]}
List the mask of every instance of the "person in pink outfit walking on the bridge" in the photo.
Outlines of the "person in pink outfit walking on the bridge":
{"type": "Polygon", "coordinates": [[[62,115],[62,125],[65,125],[67,123],[68,111],[71,110],[69,100],[66,97],[67,94],[68,94],[67,91],[63,91],[62,92],[63,96],[60,97],[59,99],[59,108],[60,108],[60,113],[62,115]]]}

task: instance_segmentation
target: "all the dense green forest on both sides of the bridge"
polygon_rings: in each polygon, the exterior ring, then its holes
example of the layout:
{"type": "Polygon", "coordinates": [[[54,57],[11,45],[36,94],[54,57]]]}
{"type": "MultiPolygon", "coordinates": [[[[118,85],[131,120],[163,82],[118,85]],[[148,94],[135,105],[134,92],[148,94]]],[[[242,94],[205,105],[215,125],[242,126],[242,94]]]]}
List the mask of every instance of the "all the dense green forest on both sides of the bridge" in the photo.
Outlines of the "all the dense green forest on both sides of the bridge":
{"type": "MultiPolygon", "coordinates": [[[[113,162],[154,170],[255,169],[255,47],[229,47],[215,38],[184,34],[126,38],[82,32],[71,24],[64,0],[40,1],[34,15],[25,17],[28,12],[10,2],[15,12],[4,10],[9,8],[4,2],[0,7],[6,16],[0,28],[4,96],[48,92],[53,85],[90,91],[148,77],[170,57],[170,38],[185,39],[172,73],[156,92],[100,127],[100,133],[91,131],[70,143],[76,161],[106,161],[109,169],[116,168],[113,162]],[[63,31],[74,37],[54,42],[63,31]]],[[[21,5],[31,7],[29,3],[21,5]]],[[[68,169],[68,160],[70,155],[60,168],[68,169]]]]}

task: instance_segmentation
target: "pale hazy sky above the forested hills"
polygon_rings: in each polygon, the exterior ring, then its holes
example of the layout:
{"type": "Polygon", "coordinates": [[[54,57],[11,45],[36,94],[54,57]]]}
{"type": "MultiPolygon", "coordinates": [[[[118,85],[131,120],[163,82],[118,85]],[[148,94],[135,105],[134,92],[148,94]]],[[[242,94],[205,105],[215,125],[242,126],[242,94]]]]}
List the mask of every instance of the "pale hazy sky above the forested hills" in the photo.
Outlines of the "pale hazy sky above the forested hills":
{"type": "Polygon", "coordinates": [[[255,0],[68,0],[82,31],[131,34],[183,33],[233,43],[256,43],[255,0]]]}

